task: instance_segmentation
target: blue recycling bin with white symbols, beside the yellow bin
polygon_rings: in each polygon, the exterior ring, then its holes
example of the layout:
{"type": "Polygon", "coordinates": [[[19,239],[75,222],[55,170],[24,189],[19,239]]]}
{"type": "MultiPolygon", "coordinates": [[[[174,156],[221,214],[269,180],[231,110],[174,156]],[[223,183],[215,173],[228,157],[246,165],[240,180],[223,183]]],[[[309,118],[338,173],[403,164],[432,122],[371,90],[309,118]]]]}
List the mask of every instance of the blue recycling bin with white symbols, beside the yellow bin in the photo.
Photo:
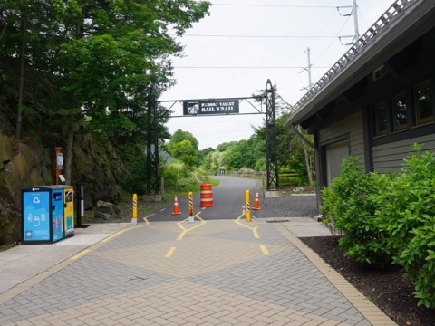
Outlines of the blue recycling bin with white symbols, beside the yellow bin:
{"type": "Polygon", "coordinates": [[[63,186],[25,187],[22,196],[23,244],[47,244],[65,236],[63,186]]]}

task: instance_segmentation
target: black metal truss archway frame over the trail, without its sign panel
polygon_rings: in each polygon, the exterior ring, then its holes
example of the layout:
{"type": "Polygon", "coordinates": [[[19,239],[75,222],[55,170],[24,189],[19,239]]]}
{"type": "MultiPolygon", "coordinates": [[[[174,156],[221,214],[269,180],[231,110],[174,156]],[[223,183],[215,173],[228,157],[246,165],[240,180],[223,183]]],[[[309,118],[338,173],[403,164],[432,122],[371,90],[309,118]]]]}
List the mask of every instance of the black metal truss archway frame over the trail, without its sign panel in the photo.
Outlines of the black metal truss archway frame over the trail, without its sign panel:
{"type": "MultiPolygon", "coordinates": [[[[217,99],[213,99],[217,100],[217,99]]],[[[246,97],[237,99],[225,99],[232,101],[247,101],[253,108],[256,109],[254,113],[237,113],[240,114],[266,114],[266,189],[278,190],[278,165],[277,165],[277,152],[276,152],[276,125],[275,125],[275,89],[270,80],[266,82],[266,90],[264,96],[259,97],[246,97]],[[249,100],[261,100],[266,103],[266,112],[262,108],[256,108],[256,105],[249,100]]],[[[191,100],[202,101],[202,100],[191,100]]],[[[209,101],[209,99],[208,99],[209,101]]],[[[156,89],[154,85],[150,86],[149,101],[147,107],[147,193],[160,194],[160,169],[159,169],[159,134],[158,134],[158,106],[161,102],[172,102],[169,110],[177,102],[175,101],[157,101],[156,89]]],[[[208,116],[213,115],[209,114],[208,116]]],[[[232,115],[232,114],[227,114],[232,115]]],[[[185,117],[183,116],[169,116],[169,118],[185,117]]]]}

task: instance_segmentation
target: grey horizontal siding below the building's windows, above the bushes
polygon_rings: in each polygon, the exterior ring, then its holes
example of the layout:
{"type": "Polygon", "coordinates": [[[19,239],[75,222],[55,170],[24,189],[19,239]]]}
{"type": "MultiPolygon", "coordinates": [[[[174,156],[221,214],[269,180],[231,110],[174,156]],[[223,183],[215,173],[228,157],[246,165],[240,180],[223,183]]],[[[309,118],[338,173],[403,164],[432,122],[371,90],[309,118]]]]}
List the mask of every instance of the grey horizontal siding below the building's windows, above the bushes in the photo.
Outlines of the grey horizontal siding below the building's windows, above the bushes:
{"type": "Polygon", "coordinates": [[[420,144],[423,150],[435,151],[433,134],[418,138],[404,139],[373,147],[373,168],[376,172],[398,172],[403,159],[413,151],[412,145],[420,144]]]}

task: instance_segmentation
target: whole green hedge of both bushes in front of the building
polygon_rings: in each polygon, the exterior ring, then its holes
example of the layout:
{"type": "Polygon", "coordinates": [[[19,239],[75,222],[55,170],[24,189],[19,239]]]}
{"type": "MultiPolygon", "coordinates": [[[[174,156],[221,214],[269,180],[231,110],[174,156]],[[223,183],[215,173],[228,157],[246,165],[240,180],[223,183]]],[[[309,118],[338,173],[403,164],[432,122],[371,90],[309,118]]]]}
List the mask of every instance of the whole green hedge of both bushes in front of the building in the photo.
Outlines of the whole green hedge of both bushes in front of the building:
{"type": "Polygon", "coordinates": [[[339,244],[356,261],[398,264],[415,285],[419,305],[435,307],[435,153],[415,153],[396,174],[364,173],[343,161],[324,188],[324,223],[343,233],[339,244]]]}

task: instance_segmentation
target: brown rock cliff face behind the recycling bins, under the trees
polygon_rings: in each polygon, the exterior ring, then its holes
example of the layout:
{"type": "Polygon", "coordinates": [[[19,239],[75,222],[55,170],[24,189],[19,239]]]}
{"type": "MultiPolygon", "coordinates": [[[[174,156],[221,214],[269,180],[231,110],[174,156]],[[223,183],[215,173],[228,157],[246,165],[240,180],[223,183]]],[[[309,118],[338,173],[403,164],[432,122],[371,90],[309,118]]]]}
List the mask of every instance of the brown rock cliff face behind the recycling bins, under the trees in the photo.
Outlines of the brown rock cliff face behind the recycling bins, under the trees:
{"type": "MultiPolygon", "coordinates": [[[[54,184],[54,149],[44,149],[31,137],[20,142],[0,124],[0,245],[18,241],[21,222],[21,189],[54,184]],[[2,131],[2,129],[4,131],[2,131]]],[[[91,134],[73,141],[72,186],[81,183],[85,208],[98,200],[118,203],[122,162],[110,145],[98,146],[91,134]]]]}

